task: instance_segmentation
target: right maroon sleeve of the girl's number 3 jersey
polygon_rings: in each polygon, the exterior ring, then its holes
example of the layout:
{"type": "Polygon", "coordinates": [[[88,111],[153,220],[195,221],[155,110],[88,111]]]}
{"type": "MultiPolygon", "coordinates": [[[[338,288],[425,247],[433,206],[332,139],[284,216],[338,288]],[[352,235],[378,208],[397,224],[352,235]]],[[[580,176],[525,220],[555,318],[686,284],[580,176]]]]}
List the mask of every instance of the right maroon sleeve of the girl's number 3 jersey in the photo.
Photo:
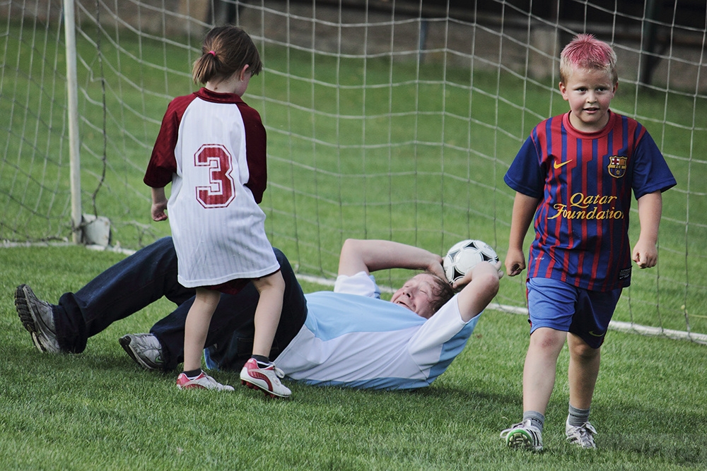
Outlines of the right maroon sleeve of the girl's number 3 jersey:
{"type": "Polygon", "coordinates": [[[240,114],[245,125],[245,158],[248,162],[248,182],[245,184],[253,193],[255,202],[260,204],[267,186],[267,136],[260,114],[241,102],[240,114]]]}

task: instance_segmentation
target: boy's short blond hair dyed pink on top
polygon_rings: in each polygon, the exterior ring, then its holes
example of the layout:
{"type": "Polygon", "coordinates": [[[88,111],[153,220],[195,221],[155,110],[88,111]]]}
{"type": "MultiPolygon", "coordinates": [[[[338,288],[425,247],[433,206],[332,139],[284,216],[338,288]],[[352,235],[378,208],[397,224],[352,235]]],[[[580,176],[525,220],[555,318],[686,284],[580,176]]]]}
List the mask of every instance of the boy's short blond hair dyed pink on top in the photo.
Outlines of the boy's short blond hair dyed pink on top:
{"type": "Polygon", "coordinates": [[[619,81],[617,54],[609,44],[594,35],[577,35],[560,54],[560,80],[567,81],[573,68],[607,71],[613,83],[619,81]]]}

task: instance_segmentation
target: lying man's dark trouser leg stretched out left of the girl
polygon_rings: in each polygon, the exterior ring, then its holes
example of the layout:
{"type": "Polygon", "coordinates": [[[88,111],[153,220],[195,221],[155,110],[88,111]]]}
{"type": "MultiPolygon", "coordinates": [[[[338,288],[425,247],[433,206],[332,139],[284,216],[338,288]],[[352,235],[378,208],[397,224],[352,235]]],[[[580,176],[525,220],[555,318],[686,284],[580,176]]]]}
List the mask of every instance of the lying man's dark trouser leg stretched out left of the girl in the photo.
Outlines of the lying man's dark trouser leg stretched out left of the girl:
{"type": "Polygon", "coordinates": [[[108,268],[76,293],[64,293],[54,307],[62,350],[80,353],[89,337],[165,296],[182,304],[193,289],[177,282],[177,254],[164,237],[108,268]]]}

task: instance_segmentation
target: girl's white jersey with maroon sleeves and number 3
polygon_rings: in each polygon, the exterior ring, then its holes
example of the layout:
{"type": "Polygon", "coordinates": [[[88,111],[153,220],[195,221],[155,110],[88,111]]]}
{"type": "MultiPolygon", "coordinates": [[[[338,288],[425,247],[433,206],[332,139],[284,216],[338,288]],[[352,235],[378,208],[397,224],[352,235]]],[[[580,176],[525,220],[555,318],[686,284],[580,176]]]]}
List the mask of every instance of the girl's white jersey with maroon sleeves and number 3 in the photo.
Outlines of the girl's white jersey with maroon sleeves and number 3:
{"type": "Polygon", "coordinates": [[[267,180],[260,115],[206,88],[167,107],[144,182],[172,183],[167,205],[185,287],[259,278],[279,269],[259,208],[267,180]]]}

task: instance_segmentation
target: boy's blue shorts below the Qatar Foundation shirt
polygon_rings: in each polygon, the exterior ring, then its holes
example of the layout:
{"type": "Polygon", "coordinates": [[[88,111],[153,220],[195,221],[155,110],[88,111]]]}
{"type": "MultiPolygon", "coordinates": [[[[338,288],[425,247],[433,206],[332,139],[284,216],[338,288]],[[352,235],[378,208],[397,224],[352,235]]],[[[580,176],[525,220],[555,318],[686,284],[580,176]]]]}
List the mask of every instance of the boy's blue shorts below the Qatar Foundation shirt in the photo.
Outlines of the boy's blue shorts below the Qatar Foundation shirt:
{"type": "Polygon", "coordinates": [[[592,348],[604,343],[621,288],[600,292],[551,278],[530,278],[526,285],[530,333],[549,327],[578,335],[592,348]]]}

